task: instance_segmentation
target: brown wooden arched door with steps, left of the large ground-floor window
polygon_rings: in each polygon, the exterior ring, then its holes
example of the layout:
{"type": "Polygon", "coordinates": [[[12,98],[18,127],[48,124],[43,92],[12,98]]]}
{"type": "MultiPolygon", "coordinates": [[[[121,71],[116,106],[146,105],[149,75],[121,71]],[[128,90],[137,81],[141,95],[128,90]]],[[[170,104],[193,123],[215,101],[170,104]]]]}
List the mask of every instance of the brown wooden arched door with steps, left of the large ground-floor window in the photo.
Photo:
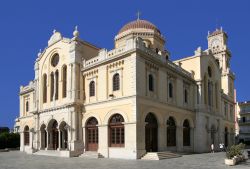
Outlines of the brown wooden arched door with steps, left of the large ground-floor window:
{"type": "Polygon", "coordinates": [[[97,151],[98,149],[98,121],[91,117],[86,124],[86,144],[87,151],[97,151]]]}

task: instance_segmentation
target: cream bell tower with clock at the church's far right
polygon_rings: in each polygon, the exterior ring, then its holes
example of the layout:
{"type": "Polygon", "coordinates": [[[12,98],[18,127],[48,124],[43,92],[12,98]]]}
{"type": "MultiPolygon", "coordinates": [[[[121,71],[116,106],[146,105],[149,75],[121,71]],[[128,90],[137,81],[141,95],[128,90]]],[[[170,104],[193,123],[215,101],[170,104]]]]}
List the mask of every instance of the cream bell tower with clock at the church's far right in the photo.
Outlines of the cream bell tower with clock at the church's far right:
{"type": "Polygon", "coordinates": [[[234,73],[230,70],[231,52],[227,46],[228,36],[222,27],[208,32],[208,49],[221,69],[221,86],[225,94],[234,97],[234,73]]]}

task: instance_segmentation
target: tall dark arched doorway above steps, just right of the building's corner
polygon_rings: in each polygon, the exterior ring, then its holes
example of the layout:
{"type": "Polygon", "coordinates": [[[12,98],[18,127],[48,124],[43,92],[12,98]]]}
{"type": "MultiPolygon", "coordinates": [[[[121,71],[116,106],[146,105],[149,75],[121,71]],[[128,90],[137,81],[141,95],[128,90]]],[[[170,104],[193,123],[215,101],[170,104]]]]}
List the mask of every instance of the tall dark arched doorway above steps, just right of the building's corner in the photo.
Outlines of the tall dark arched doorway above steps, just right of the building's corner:
{"type": "Polygon", "coordinates": [[[145,149],[147,152],[158,151],[158,123],[153,113],[145,118],[145,149]]]}

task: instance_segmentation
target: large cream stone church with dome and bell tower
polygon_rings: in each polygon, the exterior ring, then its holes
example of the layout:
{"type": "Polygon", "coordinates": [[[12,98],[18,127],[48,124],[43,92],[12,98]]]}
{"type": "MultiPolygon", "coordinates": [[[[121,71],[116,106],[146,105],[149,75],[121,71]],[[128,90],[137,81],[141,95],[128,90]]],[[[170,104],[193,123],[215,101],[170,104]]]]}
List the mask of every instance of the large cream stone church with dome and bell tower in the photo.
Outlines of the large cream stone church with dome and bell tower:
{"type": "MultiPolygon", "coordinates": [[[[208,48],[172,61],[166,39],[137,19],[114,49],[54,31],[20,87],[20,151],[140,159],[149,152],[210,151],[234,144],[235,75],[228,35],[208,33],[208,48]]],[[[171,43],[171,42],[170,42],[171,43]]]]}

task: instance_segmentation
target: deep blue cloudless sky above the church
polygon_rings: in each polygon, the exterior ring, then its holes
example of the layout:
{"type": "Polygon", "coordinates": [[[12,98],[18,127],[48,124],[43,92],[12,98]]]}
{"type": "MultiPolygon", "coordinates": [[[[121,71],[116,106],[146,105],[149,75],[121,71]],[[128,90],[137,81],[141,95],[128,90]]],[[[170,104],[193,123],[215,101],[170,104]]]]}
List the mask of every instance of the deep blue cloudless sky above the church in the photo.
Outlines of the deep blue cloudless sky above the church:
{"type": "Polygon", "coordinates": [[[112,49],[114,36],[129,21],[154,23],[167,39],[171,60],[207,48],[207,32],[223,26],[229,35],[231,67],[239,101],[250,100],[250,1],[239,0],[25,0],[0,2],[0,126],[13,127],[19,114],[19,86],[34,78],[34,61],[53,29],[112,49]]]}

